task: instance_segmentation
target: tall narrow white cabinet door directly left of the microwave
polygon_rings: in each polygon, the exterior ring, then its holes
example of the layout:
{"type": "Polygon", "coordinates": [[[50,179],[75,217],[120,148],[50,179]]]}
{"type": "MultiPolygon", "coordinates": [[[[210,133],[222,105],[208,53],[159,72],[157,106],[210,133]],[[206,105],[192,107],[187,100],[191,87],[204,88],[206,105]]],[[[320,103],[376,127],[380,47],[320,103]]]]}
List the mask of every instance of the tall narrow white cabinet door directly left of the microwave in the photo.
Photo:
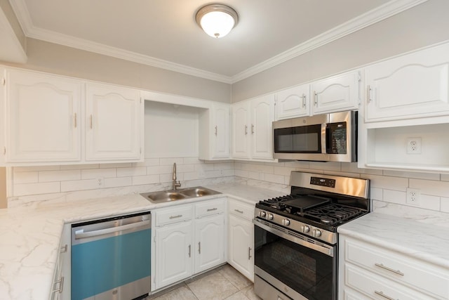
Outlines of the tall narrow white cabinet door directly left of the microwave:
{"type": "Polygon", "coordinates": [[[251,157],[253,159],[273,159],[274,96],[264,96],[251,100],[252,138],[251,157]]]}

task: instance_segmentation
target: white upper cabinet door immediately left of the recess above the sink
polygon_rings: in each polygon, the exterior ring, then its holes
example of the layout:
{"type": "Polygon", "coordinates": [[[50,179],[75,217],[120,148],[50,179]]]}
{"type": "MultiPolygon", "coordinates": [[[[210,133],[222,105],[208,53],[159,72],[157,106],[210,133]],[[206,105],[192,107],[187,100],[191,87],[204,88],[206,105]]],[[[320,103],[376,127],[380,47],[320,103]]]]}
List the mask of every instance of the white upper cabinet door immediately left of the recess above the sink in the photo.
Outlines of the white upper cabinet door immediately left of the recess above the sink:
{"type": "Polygon", "coordinates": [[[139,160],[140,92],[104,84],[86,87],[86,160],[139,160]]]}

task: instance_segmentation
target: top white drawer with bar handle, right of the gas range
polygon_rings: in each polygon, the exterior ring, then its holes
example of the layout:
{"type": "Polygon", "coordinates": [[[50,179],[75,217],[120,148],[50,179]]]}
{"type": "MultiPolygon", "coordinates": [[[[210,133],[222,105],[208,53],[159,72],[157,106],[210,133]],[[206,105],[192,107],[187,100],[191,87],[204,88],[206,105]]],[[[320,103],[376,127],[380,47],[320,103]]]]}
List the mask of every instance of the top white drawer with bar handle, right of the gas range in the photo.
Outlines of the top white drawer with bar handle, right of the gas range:
{"type": "Polygon", "coordinates": [[[346,261],[438,299],[449,299],[449,274],[441,268],[373,245],[368,248],[368,244],[353,240],[346,240],[345,247],[346,261]]]}

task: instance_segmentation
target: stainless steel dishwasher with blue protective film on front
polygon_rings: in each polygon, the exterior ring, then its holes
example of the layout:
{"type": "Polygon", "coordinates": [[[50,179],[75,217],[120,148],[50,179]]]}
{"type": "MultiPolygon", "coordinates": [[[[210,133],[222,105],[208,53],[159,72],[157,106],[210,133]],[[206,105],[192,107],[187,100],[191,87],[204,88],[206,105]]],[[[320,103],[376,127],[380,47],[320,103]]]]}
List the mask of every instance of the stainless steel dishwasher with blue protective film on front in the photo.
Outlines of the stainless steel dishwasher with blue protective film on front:
{"type": "Polygon", "coordinates": [[[72,300],[147,296],[151,236],[148,211],[72,224],[72,300]]]}

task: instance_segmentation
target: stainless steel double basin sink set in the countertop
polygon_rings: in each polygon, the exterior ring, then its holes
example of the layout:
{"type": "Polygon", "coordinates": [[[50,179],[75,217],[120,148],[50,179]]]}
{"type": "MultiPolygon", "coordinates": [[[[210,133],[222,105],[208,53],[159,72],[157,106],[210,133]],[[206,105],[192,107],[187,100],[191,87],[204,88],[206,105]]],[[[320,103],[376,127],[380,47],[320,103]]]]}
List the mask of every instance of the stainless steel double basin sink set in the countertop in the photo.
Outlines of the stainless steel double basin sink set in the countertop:
{"type": "Polygon", "coordinates": [[[196,186],[194,188],[182,188],[180,190],[162,190],[159,192],[144,193],[140,195],[149,200],[149,202],[156,204],[161,202],[190,199],[217,194],[221,193],[215,190],[210,190],[209,188],[203,188],[202,186],[196,186]]]}

